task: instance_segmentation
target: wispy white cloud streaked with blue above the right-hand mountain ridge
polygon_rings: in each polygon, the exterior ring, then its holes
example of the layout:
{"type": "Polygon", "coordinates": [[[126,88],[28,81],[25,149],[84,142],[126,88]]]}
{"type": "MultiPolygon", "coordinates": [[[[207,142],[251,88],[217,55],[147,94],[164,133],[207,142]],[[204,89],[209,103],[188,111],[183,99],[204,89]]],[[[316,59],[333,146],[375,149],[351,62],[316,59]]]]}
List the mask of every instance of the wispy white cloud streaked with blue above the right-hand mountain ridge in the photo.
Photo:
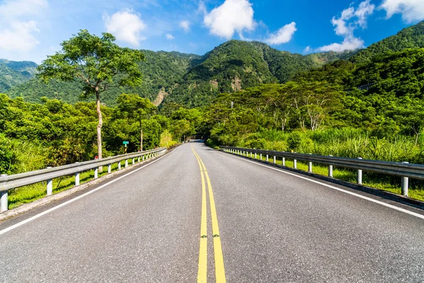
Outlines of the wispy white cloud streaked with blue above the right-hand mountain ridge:
{"type": "Polygon", "coordinates": [[[332,43],[319,47],[318,51],[336,51],[357,50],[364,46],[364,41],[355,37],[353,32],[357,28],[367,28],[367,18],[374,13],[375,5],[370,4],[370,0],[361,2],[358,8],[349,7],[341,12],[340,18],[333,17],[331,23],[336,27],[336,35],[343,37],[343,42],[332,43]]]}

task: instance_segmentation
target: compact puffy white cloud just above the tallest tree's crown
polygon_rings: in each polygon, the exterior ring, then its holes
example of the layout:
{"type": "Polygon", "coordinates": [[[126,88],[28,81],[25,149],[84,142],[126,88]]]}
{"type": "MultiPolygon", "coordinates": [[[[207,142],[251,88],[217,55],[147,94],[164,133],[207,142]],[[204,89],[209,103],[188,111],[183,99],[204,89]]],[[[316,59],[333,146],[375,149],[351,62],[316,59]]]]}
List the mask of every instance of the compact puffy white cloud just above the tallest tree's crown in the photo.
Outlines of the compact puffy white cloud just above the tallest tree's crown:
{"type": "Polygon", "coordinates": [[[105,14],[103,21],[105,22],[107,33],[112,33],[112,35],[117,37],[117,40],[128,42],[138,47],[140,41],[146,39],[146,37],[141,35],[141,31],[146,28],[146,24],[132,10],[118,11],[112,16],[105,14]]]}

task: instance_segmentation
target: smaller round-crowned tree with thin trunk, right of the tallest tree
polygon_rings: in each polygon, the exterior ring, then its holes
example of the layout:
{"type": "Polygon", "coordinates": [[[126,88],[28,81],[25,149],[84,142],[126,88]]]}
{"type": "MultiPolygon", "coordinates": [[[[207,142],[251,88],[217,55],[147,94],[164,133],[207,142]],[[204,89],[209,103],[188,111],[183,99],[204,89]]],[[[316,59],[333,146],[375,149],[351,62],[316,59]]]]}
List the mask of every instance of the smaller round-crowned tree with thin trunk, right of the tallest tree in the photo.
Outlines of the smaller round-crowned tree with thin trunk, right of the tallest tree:
{"type": "Polygon", "coordinates": [[[117,103],[120,114],[139,122],[140,150],[143,151],[143,127],[141,122],[155,114],[157,111],[156,106],[150,100],[141,98],[137,94],[122,94],[117,98],[117,103]]]}

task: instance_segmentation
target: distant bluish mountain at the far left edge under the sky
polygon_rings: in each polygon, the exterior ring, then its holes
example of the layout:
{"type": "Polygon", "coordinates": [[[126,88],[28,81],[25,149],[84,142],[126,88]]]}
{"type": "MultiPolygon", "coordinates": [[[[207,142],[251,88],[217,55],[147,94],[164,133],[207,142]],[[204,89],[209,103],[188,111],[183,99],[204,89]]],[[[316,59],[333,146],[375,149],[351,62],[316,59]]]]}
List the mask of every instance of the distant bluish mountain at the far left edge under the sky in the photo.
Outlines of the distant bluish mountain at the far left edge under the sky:
{"type": "Polygon", "coordinates": [[[0,59],[0,93],[28,81],[35,74],[35,69],[37,64],[34,62],[0,59]]]}

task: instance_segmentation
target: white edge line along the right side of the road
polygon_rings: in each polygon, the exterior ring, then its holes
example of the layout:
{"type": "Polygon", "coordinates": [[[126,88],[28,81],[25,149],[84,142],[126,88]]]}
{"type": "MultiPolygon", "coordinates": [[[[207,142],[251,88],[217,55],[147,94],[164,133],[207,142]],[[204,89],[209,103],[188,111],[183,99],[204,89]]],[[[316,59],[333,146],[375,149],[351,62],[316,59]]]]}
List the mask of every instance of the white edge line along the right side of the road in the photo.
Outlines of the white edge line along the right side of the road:
{"type": "MultiPolygon", "coordinates": [[[[220,151],[220,152],[222,152],[222,151],[220,151]]],[[[223,154],[227,154],[227,153],[223,153],[223,154]]],[[[303,180],[308,180],[308,181],[310,181],[310,182],[312,182],[312,183],[316,183],[316,184],[319,184],[319,185],[323,185],[323,186],[325,186],[325,187],[329,187],[329,188],[331,188],[331,189],[333,189],[333,190],[338,190],[339,192],[344,192],[344,193],[346,193],[346,194],[348,194],[348,195],[353,195],[353,196],[355,196],[355,197],[359,197],[359,198],[361,198],[361,199],[363,199],[363,200],[368,200],[368,201],[370,201],[370,202],[375,202],[376,204],[384,205],[384,207],[389,207],[389,208],[391,208],[391,209],[395,209],[395,210],[397,210],[397,211],[399,211],[399,212],[404,212],[404,213],[406,213],[406,214],[409,214],[409,215],[412,215],[412,216],[416,216],[416,217],[418,217],[418,218],[420,218],[420,219],[424,219],[424,215],[422,215],[422,214],[418,214],[418,213],[416,213],[416,212],[411,212],[411,211],[409,211],[408,209],[403,209],[403,208],[401,208],[401,207],[396,207],[396,206],[394,206],[394,205],[387,204],[387,203],[385,203],[385,202],[380,202],[379,200],[374,200],[374,199],[372,199],[372,198],[370,198],[370,197],[365,197],[365,196],[363,196],[363,195],[358,195],[358,194],[355,194],[355,192],[349,192],[348,190],[343,190],[343,189],[340,189],[340,188],[338,188],[338,187],[334,187],[334,186],[332,186],[332,185],[327,185],[327,184],[321,183],[321,182],[319,182],[319,181],[317,181],[317,180],[311,180],[311,179],[309,179],[309,178],[306,178],[306,177],[303,177],[303,176],[300,176],[300,175],[296,175],[296,174],[293,174],[293,173],[290,173],[290,172],[286,172],[286,171],[280,170],[280,169],[275,168],[275,167],[272,167],[272,166],[267,166],[267,165],[265,165],[265,164],[261,164],[261,163],[255,162],[255,161],[250,161],[250,160],[248,160],[248,159],[241,158],[241,157],[238,157],[238,156],[235,156],[235,155],[232,155],[232,154],[228,154],[228,155],[229,155],[229,156],[232,156],[232,157],[234,157],[234,158],[237,158],[237,159],[241,159],[241,160],[243,160],[243,161],[247,161],[247,162],[250,162],[250,163],[257,164],[257,165],[259,165],[259,166],[263,166],[263,167],[266,167],[266,168],[269,168],[269,169],[273,169],[273,170],[275,170],[275,171],[279,171],[279,172],[281,172],[281,173],[285,173],[285,174],[288,174],[288,175],[292,175],[292,176],[295,176],[295,177],[300,178],[300,179],[303,179],[303,180]]]]}

